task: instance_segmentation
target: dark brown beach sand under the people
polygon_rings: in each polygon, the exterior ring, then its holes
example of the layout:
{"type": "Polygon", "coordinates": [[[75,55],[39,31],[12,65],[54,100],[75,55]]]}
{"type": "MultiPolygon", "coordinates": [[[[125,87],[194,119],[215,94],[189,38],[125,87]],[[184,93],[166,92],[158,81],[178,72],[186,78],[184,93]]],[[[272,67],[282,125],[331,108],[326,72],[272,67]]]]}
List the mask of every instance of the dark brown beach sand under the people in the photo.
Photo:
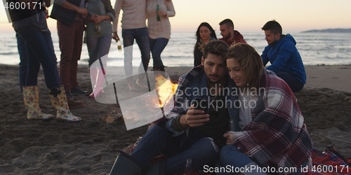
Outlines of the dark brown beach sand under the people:
{"type": "MultiPolygon", "coordinates": [[[[305,66],[307,84],[296,93],[314,148],[334,145],[351,158],[351,66],[305,66]]],[[[166,67],[173,81],[190,67],[166,67]]],[[[124,73],[120,71],[119,73],[124,73]]],[[[124,75],[124,74],[123,74],[124,75]]],[[[119,149],[134,144],[147,126],[126,130],[121,120],[105,123],[117,115],[117,104],[74,96],[85,103],[71,109],[81,123],[29,121],[18,82],[18,66],[0,65],[0,174],[100,174],[109,172],[119,149]]],[[[91,92],[87,66],[79,66],[78,80],[91,92]]],[[[38,78],[39,103],[45,113],[55,114],[43,72],[38,78]]]]}

